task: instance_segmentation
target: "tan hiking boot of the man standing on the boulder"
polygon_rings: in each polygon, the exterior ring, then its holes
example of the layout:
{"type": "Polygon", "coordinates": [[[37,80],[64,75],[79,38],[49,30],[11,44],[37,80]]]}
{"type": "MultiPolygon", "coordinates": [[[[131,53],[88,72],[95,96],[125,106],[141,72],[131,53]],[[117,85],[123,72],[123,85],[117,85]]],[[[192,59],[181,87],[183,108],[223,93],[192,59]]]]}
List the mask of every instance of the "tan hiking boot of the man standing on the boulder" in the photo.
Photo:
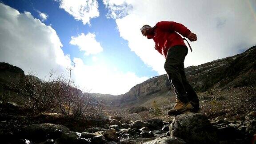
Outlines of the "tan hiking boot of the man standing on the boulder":
{"type": "Polygon", "coordinates": [[[190,102],[184,104],[179,99],[176,99],[176,104],[174,105],[174,107],[171,110],[169,110],[167,112],[167,114],[170,116],[178,115],[178,114],[185,113],[185,112],[191,112],[190,110],[192,110],[193,108],[194,107],[192,106],[192,104],[190,102]]]}

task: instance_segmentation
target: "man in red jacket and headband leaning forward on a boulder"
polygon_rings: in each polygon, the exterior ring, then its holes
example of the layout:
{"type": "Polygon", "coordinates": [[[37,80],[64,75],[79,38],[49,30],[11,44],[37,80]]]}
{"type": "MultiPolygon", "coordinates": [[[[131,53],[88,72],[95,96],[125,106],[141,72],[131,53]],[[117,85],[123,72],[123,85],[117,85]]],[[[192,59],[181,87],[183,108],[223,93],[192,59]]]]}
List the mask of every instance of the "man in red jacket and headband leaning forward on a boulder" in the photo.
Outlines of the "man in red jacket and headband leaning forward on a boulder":
{"type": "MultiPolygon", "coordinates": [[[[188,54],[188,48],[184,43],[185,38],[180,36],[196,41],[196,34],[190,32],[184,25],[173,21],[160,21],[153,28],[144,25],[140,31],[143,36],[155,41],[155,49],[165,58],[164,69],[176,94],[176,104],[167,112],[168,115],[198,112],[198,97],[188,83],[184,71],[184,59],[188,54]]],[[[192,51],[191,47],[190,50],[192,51]]]]}

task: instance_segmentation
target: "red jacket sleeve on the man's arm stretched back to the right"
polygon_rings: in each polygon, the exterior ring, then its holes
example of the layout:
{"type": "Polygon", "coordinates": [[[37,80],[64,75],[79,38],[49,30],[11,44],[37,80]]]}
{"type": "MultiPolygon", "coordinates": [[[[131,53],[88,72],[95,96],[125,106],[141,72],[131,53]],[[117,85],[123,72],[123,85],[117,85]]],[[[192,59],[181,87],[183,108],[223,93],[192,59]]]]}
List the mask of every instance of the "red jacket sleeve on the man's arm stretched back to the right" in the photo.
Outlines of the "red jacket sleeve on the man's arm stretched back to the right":
{"type": "Polygon", "coordinates": [[[187,27],[174,21],[160,21],[156,24],[156,27],[165,31],[179,32],[184,37],[187,37],[190,33],[190,30],[187,27]]]}

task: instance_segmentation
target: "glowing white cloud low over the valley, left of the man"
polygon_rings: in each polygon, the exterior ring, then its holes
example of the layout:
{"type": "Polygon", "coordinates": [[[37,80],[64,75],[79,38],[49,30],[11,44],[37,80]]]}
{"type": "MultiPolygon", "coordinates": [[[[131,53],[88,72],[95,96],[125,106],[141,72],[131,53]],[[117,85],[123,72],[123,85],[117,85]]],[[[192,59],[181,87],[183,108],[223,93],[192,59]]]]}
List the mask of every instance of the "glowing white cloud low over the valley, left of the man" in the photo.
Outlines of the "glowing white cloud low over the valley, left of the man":
{"type": "Polygon", "coordinates": [[[90,92],[120,95],[148,79],[148,77],[138,77],[133,72],[120,72],[107,64],[89,66],[79,58],[75,58],[74,62],[76,67],[73,75],[77,84],[80,88],[91,90],[90,92]]]}

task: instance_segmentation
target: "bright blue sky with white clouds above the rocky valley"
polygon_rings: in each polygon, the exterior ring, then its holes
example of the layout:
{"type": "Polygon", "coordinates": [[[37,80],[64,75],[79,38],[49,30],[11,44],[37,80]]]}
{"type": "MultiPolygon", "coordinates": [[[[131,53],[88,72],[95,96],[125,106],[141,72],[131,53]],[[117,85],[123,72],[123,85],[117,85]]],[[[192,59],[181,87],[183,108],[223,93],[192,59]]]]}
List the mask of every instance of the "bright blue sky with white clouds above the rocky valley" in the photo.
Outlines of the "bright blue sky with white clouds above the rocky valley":
{"type": "Polygon", "coordinates": [[[185,67],[256,45],[256,0],[0,0],[0,62],[40,79],[72,68],[84,92],[124,94],[165,74],[164,56],[140,33],[159,21],[197,35],[185,67]]]}

